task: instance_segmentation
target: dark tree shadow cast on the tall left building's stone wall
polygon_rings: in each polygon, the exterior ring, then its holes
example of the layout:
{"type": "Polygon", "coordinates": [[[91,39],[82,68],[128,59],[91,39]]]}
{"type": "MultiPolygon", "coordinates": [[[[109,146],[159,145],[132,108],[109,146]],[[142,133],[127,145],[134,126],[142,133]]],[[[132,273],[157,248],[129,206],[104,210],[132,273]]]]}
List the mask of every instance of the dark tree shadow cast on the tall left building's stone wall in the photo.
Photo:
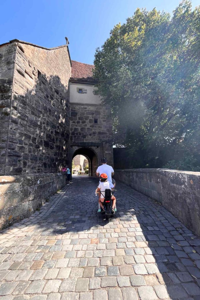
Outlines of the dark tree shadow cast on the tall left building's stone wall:
{"type": "Polygon", "coordinates": [[[47,79],[38,71],[37,77],[34,89],[25,95],[13,93],[6,175],[57,172],[69,163],[67,87],[58,76],[47,79]]]}

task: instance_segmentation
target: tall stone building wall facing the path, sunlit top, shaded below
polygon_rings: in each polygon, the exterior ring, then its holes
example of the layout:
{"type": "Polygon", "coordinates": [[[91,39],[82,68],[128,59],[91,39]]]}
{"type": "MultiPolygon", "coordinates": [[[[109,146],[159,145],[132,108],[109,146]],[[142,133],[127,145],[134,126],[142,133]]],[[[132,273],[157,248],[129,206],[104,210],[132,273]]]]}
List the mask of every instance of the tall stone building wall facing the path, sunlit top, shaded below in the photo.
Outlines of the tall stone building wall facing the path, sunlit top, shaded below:
{"type": "Polygon", "coordinates": [[[16,43],[5,175],[57,172],[69,163],[67,45],[16,43]]]}

